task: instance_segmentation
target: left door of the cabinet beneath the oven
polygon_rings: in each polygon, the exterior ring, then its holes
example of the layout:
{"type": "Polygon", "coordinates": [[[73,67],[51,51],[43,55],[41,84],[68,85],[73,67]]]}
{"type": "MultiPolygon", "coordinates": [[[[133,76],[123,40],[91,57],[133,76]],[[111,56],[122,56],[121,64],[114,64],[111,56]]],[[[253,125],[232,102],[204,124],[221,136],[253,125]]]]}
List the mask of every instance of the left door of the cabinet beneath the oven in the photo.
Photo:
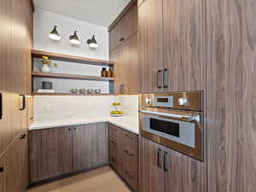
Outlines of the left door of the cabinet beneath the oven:
{"type": "MultiPolygon", "coordinates": [[[[148,1],[148,0],[147,0],[148,1]]],[[[163,147],[160,144],[140,137],[140,188],[142,192],[165,190],[163,172],[163,147]]]]}

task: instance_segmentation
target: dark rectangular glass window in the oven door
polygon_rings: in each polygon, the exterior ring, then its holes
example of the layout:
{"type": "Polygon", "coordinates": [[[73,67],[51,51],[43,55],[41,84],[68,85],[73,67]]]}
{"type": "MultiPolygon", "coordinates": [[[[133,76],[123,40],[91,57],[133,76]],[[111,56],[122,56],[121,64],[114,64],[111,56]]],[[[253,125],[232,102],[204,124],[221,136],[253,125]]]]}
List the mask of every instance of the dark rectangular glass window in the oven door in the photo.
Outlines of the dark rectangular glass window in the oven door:
{"type": "Polygon", "coordinates": [[[150,129],[179,137],[179,124],[177,123],[150,118],[150,129]]]}

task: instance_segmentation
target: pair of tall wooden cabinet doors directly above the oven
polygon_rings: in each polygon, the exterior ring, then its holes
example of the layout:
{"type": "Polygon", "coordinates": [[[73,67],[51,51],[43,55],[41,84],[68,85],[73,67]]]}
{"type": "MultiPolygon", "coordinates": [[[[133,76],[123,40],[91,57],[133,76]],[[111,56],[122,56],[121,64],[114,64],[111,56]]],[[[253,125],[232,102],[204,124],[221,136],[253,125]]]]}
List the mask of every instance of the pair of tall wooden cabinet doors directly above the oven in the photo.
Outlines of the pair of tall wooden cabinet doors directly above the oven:
{"type": "Polygon", "coordinates": [[[138,8],[142,92],[205,89],[202,17],[202,0],[147,0],[138,8]]]}

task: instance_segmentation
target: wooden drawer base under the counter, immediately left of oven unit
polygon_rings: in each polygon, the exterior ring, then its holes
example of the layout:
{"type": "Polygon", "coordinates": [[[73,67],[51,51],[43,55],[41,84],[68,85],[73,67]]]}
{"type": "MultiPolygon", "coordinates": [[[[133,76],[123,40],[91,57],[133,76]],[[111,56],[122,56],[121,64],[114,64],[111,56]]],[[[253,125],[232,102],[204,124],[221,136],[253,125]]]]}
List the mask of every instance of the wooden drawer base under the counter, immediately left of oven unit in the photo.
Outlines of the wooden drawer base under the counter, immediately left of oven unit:
{"type": "Polygon", "coordinates": [[[138,191],[138,136],[115,125],[109,125],[110,166],[138,191]]]}

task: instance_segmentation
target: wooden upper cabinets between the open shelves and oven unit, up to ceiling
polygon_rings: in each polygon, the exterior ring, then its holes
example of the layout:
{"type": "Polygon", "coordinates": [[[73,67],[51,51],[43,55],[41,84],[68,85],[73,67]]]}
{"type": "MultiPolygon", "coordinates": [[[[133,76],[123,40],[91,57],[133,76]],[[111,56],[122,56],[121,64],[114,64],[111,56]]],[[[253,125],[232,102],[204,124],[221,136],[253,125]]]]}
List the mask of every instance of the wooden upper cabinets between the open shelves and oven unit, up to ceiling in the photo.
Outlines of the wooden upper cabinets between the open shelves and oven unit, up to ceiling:
{"type": "Polygon", "coordinates": [[[109,27],[109,55],[114,66],[114,93],[138,94],[137,3],[131,1],[109,27]]]}

